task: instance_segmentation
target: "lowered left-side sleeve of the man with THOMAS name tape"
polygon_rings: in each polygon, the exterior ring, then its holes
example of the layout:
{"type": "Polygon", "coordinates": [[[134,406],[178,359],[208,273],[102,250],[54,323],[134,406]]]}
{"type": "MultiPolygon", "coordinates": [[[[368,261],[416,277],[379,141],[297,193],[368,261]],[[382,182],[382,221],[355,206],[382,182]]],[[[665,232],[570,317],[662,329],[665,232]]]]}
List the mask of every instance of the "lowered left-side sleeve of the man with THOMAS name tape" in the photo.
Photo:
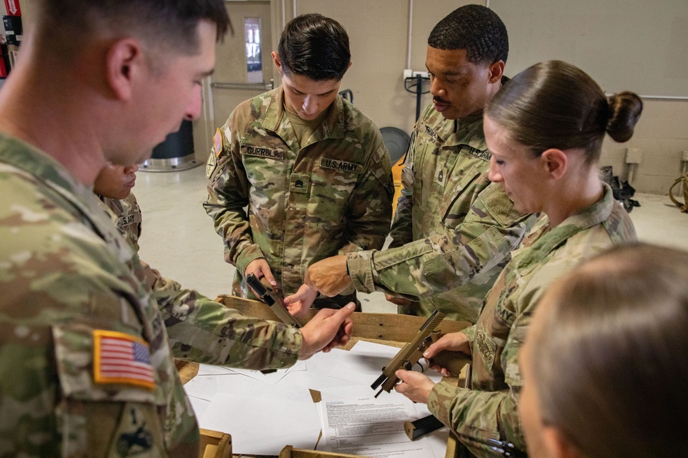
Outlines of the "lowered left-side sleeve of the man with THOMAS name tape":
{"type": "Polygon", "coordinates": [[[409,143],[409,150],[406,153],[404,160],[404,168],[401,171],[401,196],[396,203],[396,212],[394,213],[394,221],[391,224],[389,236],[391,242],[390,248],[401,247],[413,240],[413,161],[414,152],[416,151],[416,131],[418,124],[411,133],[411,142],[409,143]]]}

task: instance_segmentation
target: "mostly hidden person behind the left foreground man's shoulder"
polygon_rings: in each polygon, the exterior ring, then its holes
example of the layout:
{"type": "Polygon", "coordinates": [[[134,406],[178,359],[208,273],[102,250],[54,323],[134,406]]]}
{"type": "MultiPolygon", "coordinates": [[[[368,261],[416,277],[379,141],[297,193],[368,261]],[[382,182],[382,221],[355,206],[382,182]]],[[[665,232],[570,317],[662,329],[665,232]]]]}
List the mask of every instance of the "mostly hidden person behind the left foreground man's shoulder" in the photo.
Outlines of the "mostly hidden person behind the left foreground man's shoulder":
{"type": "Polygon", "coordinates": [[[109,214],[114,217],[114,225],[138,253],[138,238],[141,236],[141,208],[131,188],[136,183],[138,165],[106,165],[100,170],[93,191],[103,203],[109,214]]]}

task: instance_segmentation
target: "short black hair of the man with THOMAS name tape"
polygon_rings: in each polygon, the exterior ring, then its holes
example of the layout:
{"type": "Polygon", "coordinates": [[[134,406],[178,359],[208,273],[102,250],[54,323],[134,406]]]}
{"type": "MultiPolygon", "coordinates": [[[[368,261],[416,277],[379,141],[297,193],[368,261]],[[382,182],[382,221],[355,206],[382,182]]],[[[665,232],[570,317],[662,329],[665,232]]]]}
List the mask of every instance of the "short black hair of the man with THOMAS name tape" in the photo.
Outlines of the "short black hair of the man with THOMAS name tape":
{"type": "Polygon", "coordinates": [[[428,45],[436,49],[465,49],[474,64],[491,64],[509,56],[509,36],[497,14],[482,5],[453,10],[438,22],[428,45]]]}

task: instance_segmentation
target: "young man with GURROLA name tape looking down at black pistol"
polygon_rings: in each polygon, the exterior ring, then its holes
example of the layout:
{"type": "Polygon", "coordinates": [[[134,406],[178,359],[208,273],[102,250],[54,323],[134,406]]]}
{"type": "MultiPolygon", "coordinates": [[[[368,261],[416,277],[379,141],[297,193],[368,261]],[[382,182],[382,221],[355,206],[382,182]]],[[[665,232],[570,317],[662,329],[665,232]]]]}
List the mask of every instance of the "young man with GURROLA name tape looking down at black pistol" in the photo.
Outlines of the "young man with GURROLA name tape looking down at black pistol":
{"type": "MultiPolygon", "coordinates": [[[[343,27],[320,14],[298,16],[272,58],[281,86],[237,106],[208,158],[204,207],[237,267],[233,293],[243,297],[253,297],[248,273],[292,294],[313,262],[380,249],[394,196],[380,131],[338,96],[351,65],[343,27]]],[[[314,306],[355,300],[353,287],[339,293],[314,306]]]]}

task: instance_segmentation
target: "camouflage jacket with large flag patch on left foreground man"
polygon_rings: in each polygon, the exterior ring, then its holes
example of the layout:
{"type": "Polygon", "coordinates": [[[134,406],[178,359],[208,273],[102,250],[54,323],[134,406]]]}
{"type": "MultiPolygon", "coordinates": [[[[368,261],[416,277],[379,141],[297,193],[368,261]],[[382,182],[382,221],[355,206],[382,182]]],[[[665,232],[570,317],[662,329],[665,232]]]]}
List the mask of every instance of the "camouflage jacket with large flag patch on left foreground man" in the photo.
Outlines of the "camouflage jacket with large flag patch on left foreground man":
{"type": "Polygon", "coordinates": [[[252,368],[297,360],[301,333],[281,323],[169,290],[158,306],[92,189],[2,135],[0,193],[0,455],[195,456],[173,355],[252,368]]]}

